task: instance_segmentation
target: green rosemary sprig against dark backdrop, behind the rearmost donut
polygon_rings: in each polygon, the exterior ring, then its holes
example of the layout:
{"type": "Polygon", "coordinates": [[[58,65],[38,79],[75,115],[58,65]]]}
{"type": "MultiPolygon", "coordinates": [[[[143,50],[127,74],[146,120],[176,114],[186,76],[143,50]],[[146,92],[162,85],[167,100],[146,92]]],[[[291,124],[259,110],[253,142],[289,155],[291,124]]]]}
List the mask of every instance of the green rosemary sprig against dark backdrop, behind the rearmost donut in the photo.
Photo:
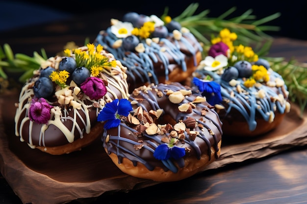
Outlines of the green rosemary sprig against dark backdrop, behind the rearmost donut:
{"type": "MultiPolygon", "coordinates": [[[[232,32],[235,32],[238,35],[238,43],[244,45],[272,41],[273,38],[265,32],[280,30],[278,26],[264,25],[264,23],[280,17],[280,13],[256,20],[256,16],[252,15],[253,10],[249,9],[237,17],[227,19],[236,11],[236,7],[232,7],[219,17],[210,18],[207,16],[209,14],[208,9],[195,14],[198,7],[199,3],[191,3],[179,16],[173,19],[187,27],[205,45],[210,44],[211,34],[217,34],[223,28],[229,28],[232,32]]],[[[167,12],[168,7],[165,8],[163,16],[166,16],[167,12]]]]}

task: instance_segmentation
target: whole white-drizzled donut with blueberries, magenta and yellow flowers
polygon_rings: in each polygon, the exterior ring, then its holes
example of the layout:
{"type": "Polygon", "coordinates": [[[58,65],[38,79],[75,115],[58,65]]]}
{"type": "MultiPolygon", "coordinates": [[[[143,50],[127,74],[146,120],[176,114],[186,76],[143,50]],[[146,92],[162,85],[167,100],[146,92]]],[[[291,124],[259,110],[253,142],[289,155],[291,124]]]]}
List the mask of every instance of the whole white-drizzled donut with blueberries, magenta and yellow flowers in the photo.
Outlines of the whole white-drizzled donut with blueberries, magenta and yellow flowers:
{"type": "Polygon", "coordinates": [[[16,103],[15,134],[29,147],[68,154],[102,134],[107,102],[128,98],[125,67],[101,45],[65,50],[34,71],[16,103]]]}

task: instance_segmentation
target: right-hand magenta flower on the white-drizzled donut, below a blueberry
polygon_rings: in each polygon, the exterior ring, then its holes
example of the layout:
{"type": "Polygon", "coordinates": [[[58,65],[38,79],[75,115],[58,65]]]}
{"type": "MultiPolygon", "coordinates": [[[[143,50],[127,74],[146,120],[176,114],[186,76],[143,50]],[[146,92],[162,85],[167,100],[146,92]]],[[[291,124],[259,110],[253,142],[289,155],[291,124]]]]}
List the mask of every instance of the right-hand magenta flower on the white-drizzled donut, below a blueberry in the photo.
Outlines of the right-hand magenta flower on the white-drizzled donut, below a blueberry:
{"type": "Polygon", "coordinates": [[[98,100],[107,93],[103,81],[97,77],[88,77],[85,82],[81,84],[81,89],[91,100],[98,100]]]}

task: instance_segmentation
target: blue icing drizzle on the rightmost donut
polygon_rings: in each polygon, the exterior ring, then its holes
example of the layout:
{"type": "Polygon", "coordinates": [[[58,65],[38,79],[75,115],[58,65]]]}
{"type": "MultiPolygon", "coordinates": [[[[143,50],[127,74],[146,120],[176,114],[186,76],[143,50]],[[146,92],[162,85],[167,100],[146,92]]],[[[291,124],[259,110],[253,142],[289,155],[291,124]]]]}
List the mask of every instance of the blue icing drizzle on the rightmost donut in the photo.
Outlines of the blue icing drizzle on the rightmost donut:
{"type": "MultiPolygon", "coordinates": [[[[277,72],[273,70],[270,71],[270,78],[275,80],[276,78],[282,77],[277,72]]],[[[241,86],[241,89],[244,90],[242,92],[238,92],[236,90],[236,86],[230,86],[229,82],[226,82],[221,79],[221,76],[216,72],[207,71],[205,69],[198,69],[196,73],[199,74],[198,78],[204,79],[206,75],[212,77],[214,81],[221,85],[221,94],[222,98],[228,102],[228,108],[226,110],[226,115],[230,114],[232,109],[237,110],[245,120],[248,122],[249,130],[254,131],[256,129],[256,112],[260,113],[265,121],[269,121],[270,118],[275,117],[275,109],[279,111],[279,113],[284,113],[286,109],[286,104],[281,104],[280,101],[271,100],[271,98],[279,98],[278,94],[273,91],[270,87],[262,85],[260,87],[252,87],[246,88],[243,83],[242,78],[237,79],[238,85],[241,86]],[[265,98],[256,97],[256,93],[259,90],[263,90],[265,92],[265,98]],[[230,92],[234,94],[234,96],[230,96],[230,92]]],[[[283,85],[282,88],[287,91],[286,85],[283,85]]],[[[278,92],[283,93],[281,87],[278,87],[278,92]]]]}

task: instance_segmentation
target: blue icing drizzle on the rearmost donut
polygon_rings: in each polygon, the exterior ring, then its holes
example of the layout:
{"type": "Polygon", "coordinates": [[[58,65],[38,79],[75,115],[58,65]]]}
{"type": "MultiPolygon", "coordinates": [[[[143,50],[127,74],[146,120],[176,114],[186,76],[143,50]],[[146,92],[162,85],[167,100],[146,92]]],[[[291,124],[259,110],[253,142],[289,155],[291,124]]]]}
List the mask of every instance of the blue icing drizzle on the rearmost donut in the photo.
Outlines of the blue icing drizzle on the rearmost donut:
{"type": "Polygon", "coordinates": [[[106,51],[109,51],[114,55],[115,59],[120,60],[123,66],[127,67],[126,73],[128,75],[128,81],[131,80],[133,82],[138,82],[140,79],[142,83],[147,82],[149,84],[158,84],[160,82],[153,66],[153,63],[158,63],[157,56],[165,67],[165,80],[168,81],[168,66],[170,65],[170,62],[167,54],[173,58],[183,71],[187,70],[185,54],[180,51],[179,42],[184,45],[187,51],[191,54],[194,60],[194,66],[197,66],[197,51],[203,51],[202,45],[197,41],[192,33],[182,33],[180,40],[175,40],[173,37],[173,33],[168,34],[168,38],[171,38],[172,42],[166,38],[159,39],[160,43],[165,45],[165,50],[161,50],[161,45],[155,42],[151,42],[151,45],[147,45],[144,39],[140,40],[140,43],[143,43],[145,46],[145,52],[136,54],[124,50],[123,47],[113,48],[113,44],[119,40],[119,38],[117,38],[111,32],[110,27],[108,27],[105,31],[101,31],[101,33],[97,35],[94,45],[102,45],[106,51]],[[194,48],[194,46],[196,46],[196,48],[194,48]],[[150,76],[148,76],[149,73],[150,76]]]}

